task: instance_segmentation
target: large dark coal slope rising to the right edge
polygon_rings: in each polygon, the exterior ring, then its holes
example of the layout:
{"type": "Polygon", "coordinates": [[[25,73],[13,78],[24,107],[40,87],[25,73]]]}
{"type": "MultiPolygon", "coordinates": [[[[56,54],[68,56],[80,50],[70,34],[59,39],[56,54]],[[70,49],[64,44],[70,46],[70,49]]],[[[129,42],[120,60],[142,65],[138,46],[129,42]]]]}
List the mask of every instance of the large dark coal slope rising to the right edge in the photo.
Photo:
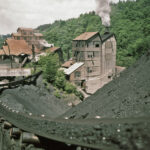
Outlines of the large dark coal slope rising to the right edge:
{"type": "Polygon", "coordinates": [[[150,52],[121,76],[63,115],[68,118],[125,118],[150,114],[150,52]]]}

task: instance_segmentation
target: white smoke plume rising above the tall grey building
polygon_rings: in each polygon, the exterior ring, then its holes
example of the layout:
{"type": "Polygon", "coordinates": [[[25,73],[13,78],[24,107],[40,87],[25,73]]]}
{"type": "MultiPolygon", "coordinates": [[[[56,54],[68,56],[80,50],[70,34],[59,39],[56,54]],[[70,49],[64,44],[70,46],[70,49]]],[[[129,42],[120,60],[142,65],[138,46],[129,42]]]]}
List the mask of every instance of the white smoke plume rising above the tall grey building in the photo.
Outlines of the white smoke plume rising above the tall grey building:
{"type": "Polygon", "coordinates": [[[101,17],[104,26],[110,26],[110,0],[96,0],[97,8],[96,14],[101,17]]]}

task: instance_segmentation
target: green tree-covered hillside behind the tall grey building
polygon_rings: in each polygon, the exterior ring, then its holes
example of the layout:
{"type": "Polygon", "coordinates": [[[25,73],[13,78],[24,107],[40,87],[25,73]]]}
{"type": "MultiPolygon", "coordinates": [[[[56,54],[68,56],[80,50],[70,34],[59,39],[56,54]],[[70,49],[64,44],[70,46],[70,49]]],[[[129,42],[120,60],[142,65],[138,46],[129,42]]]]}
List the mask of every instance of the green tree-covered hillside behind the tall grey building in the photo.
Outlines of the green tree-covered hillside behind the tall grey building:
{"type": "MultiPolygon", "coordinates": [[[[38,29],[48,42],[62,47],[65,59],[71,57],[72,39],[76,36],[86,31],[100,31],[102,34],[105,30],[94,12],[41,25],[38,29]]],[[[117,64],[131,65],[150,48],[150,0],[112,4],[110,30],[117,39],[117,64]]]]}

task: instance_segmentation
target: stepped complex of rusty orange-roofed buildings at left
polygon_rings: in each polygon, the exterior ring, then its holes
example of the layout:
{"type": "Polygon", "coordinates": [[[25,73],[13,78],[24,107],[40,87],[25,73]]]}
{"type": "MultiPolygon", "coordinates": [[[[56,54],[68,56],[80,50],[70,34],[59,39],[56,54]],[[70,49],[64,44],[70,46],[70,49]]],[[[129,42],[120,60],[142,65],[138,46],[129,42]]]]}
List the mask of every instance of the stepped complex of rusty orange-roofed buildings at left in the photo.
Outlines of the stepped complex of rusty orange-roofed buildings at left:
{"type": "Polygon", "coordinates": [[[63,63],[63,53],[60,47],[48,44],[43,34],[37,30],[18,28],[17,33],[12,33],[11,38],[4,42],[0,51],[0,64],[1,67],[3,64],[5,68],[22,67],[27,61],[38,61],[40,56],[45,56],[47,52],[57,53],[60,64],[63,63]]]}

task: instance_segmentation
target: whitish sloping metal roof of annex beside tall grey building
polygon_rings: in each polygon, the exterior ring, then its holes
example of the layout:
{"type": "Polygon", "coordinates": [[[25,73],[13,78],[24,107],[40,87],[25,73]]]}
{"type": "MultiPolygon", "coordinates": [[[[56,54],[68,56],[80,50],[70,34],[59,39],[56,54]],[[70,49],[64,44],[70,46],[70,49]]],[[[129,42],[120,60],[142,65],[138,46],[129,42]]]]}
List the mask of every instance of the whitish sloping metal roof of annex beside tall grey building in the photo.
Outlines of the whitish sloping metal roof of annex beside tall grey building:
{"type": "Polygon", "coordinates": [[[77,70],[78,68],[80,68],[82,65],[84,65],[83,62],[77,62],[77,63],[73,64],[71,67],[69,67],[68,69],[65,69],[64,72],[65,72],[66,75],[70,75],[75,70],[77,70]]]}

